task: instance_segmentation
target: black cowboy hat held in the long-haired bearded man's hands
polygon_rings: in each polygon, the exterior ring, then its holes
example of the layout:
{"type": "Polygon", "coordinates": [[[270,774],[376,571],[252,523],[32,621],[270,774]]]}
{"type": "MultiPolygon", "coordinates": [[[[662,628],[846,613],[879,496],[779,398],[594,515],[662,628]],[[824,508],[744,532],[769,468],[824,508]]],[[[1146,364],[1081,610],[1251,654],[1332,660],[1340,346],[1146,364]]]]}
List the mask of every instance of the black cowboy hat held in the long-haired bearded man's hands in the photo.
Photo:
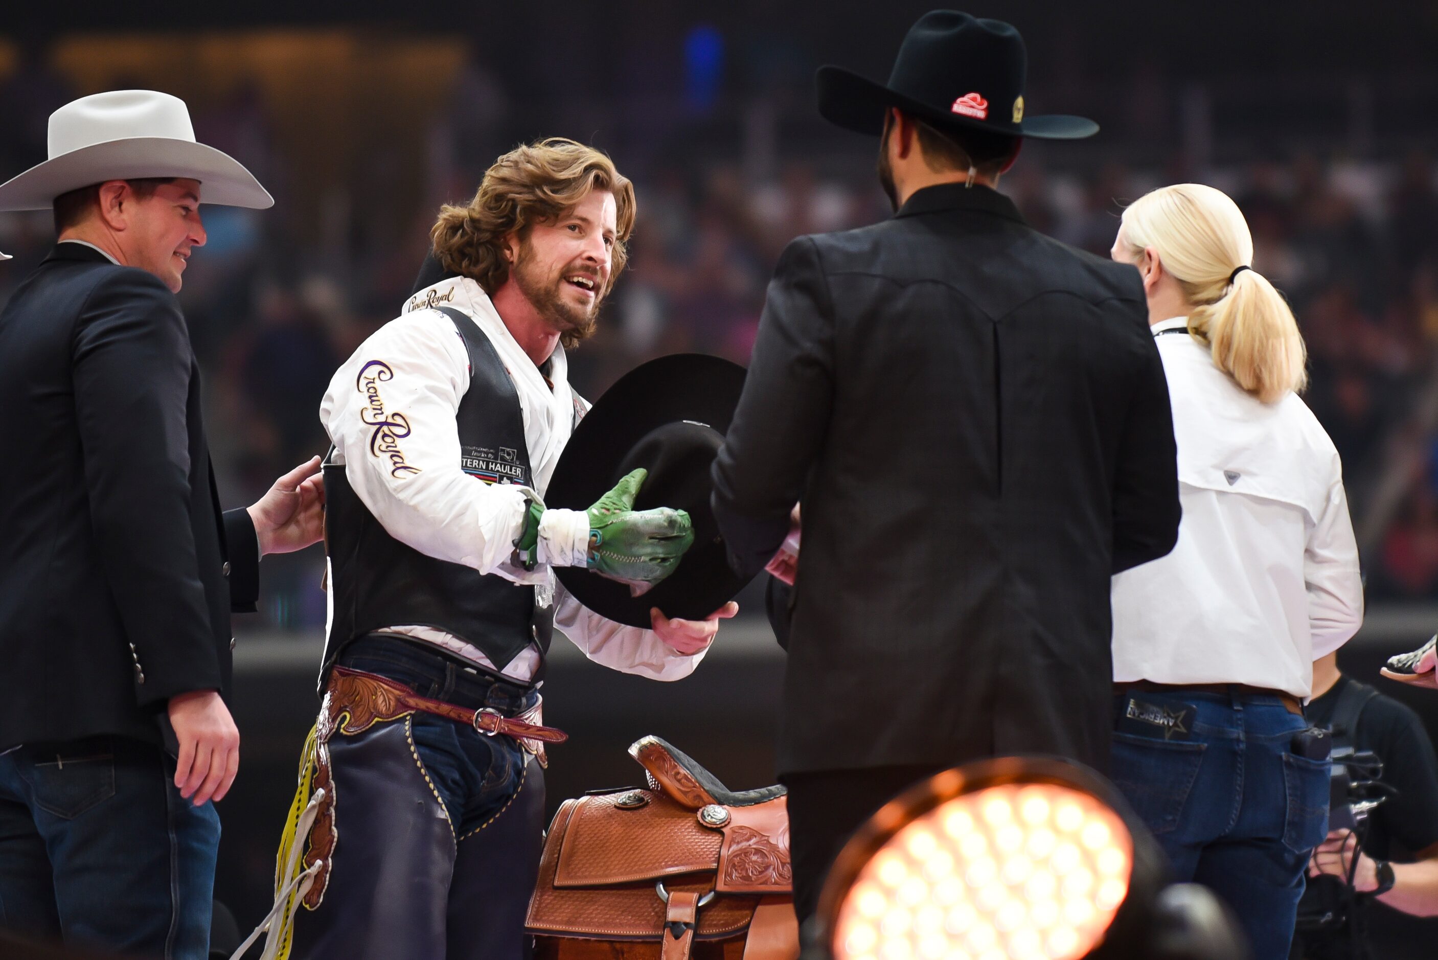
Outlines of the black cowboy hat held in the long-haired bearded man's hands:
{"type": "Polygon", "coordinates": [[[644,467],[649,477],[634,509],[687,510],[695,545],[673,573],[640,596],[587,568],[555,568],[577,601],[601,617],[647,629],[651,606],[670,618],[703,619],[749,582],[729,569],[709,507],[709,467],[742,391],[743,368],[738,364],[676,354],[626,374],[584,415],[555,464],[545,506],[587,510],[624,474],[644,467]]]}

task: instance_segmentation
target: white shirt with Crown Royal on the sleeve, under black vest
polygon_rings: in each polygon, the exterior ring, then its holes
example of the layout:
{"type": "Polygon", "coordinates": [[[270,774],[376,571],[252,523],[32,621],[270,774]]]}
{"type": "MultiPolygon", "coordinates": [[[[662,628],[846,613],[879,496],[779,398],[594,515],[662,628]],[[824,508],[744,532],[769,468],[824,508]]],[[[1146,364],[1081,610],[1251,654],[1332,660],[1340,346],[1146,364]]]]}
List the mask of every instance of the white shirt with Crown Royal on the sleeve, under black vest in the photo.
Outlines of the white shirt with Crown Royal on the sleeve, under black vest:
{"type": "MultiPolygon", "coordinates": [[[[483,289],[467,277],[456,277],[410,297],[397,319],[360,345],[329,381],[319,418],[335,444],[335,461],[345,464],[345,477],[355,496],[390,536],[420,553],[533,585],[541,605],[554,604],[555,627],[595,663],[654,680],[687,677],[705,651],[684,655],[653,631],[605,619],[582,606],[555,579],[552,565],[585,562],[590,525],[582,510],[546,510],[539,525],[539,565],[525,571],[510,563],[513,540],[523,526],[525,497],[542,500],[569,440],[575,414],[587,408],[588,404],[569,389],[564,348],[555,346],[546,371],[541,372],[499,319],[483,289]],[[434,306],[464,313],[476,332],[495,345],[519,394],[535,490],[476,481],[460,469],[456,414],[469,389],[469,355],[454,323],[431,309],[434,306]],[[374,418],[374,401],[357,388],[361,371],[372,361],[381,361],[391,371],[388,379],[372,384],[384,418],[395,421],[398,414],[408,428],[403,435],[391,431],[393,444],[384,453],[371,451],[375,427],[367,420],[374,418]]],[[[459,637],[406,624],[391,629],[495,668],[459,637]]],[[[539,661],[539,651],[531,647],[505,665],[503,674],[529,680],[539,661]]]]}

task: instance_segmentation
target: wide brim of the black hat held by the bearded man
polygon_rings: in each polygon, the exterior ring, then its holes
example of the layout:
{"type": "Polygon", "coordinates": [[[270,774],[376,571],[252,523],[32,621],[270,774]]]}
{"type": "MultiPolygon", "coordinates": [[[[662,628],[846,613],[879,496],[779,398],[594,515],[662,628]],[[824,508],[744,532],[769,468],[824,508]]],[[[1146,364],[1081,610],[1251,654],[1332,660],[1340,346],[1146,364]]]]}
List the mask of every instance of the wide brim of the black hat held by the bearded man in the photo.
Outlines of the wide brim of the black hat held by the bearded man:
{"type": "MultiPolygon", "coordinates": [[[[679,421],[729,430],[745,369],[700,354],[676,354],[650,361],[620,378],[584,415],[555,464],[545,506],[587,510],[620,481],[630,451],[654,430],[679,421]]],[[[687,506],[696,530],[713,530],[709,507],[712,484],[705,464],[700,502],[687,506]]],[[[636,509],[676,506],[649,503],[640,489],[636,509]]],[[[669,618],[703,619],[733,599],[752,579],[731,569],[728,548],[718,536],[696,542],[679,568],[654,589],[630,596],[624,583],[578,566],[555,573],[580,604],[618,624],[651,627],[650,608],[669,618]]]]}

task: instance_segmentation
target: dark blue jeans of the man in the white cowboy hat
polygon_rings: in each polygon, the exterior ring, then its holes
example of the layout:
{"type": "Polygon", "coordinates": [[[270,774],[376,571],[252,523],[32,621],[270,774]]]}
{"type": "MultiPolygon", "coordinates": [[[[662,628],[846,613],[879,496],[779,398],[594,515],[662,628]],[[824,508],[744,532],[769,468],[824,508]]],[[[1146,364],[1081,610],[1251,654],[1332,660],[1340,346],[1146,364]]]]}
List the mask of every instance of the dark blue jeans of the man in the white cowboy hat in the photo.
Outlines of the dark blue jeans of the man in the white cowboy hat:
{"type": "Polygon", "coordinates": [[[0,924],[167,960],[206,960],[220,818],[150,743],[89,737],[0,754],[0,924]]]}

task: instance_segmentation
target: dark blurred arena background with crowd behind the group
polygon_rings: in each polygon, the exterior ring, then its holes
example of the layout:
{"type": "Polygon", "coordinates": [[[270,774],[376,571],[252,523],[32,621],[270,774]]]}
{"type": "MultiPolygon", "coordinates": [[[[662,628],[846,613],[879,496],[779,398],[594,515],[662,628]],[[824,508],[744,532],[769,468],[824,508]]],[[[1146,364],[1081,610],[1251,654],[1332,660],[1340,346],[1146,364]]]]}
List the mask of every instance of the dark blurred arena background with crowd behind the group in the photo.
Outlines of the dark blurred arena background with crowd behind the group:
{"type": "MultiPolygon", "coordinates": [[[[14,7],[17,4],[12,4],[14,7]]],[[[631,269],[572,355],[597,398],[656,355],[746,361],[764,286],[801,233],[886,216],[876,141],[823,124],[812,72],[886,76],[929,4],[98,3],[0,22],[0,180],[45,158],[49,114],[104,89],[186,99],[201,141],[250,167],[269,211],[204,210],[210,243],[181,302],[207,377],[227,504],[325,447],[334,368],[406,299],[443,201],[542,135],[607,149],[636,181],[631,269]]],[[[1345,463],[1369,627],[1345,664],[1438,627],[1438,3],[981,3],[1030,49],[1028,112],[1103,132],[1030,144],[1002,188],[1041,229],[1106,251],[1122,204],[1196,180],[1234,195],[1254,266],[1288,296],[1310,351],[1306,400],[1345,463]]],[[[53,240],[47,214],[0,214],[0,302],[53,240]]],[[[217,892],[265,913],[324,624],[318,550],[265,562],[262,612],[237,624],[244,747],[217,892]]],[[[751,594],[745,615],[759,605],[751,594]]],[[[559,641],[562,644],[562,641],[559,641]]],[[[771,779],[782,657],[761,619],[726,628],[689,680],[646,683],[558,655],[546,717],[551,805],[637,782],[646,733],[731,786],[771,779]]],[[[1395,684],[1383,684],[1385,688],[1395,684]]],[[[1438,730],[1438,694],[1398,690],[1438,730]]],[[[873,704],[856,704],[873,709],[873,704]]],[[[1438,928],[1379,924],[1380,956],[1428,956],[1438,928]]]]}

